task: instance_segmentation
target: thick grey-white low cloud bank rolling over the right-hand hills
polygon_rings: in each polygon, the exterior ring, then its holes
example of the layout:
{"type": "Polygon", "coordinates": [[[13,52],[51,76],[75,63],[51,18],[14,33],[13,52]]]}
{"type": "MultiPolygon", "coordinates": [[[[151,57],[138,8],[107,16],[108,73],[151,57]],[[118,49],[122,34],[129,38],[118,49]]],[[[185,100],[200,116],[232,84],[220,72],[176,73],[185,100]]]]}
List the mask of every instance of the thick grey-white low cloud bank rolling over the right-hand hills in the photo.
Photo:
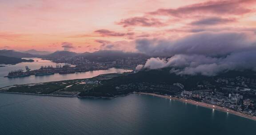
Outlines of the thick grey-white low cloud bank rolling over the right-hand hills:
{"type": "Polygon", "coordinates": [[[256,71],[256,36],[243,32],[200,32],[179,40],[137,40],[140,52],[170,58],[150,58],[141,69],[172,67],[177,75],[217,75],[229,70],[256,71]]]}

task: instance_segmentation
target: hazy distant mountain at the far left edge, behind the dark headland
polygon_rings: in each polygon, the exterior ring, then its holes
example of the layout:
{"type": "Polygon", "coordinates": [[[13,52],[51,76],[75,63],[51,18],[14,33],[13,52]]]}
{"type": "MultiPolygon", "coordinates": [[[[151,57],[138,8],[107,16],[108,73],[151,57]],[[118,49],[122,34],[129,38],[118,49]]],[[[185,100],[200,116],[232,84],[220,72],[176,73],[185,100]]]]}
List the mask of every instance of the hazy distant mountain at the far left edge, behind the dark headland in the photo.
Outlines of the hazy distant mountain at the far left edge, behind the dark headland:
{"type": "Polygon", "coordinates": [[[16,52],[14,50],[0,50],[0,56],[15,57],[15,58],[32,58],[35,57],[29,53],[16,52]]]}

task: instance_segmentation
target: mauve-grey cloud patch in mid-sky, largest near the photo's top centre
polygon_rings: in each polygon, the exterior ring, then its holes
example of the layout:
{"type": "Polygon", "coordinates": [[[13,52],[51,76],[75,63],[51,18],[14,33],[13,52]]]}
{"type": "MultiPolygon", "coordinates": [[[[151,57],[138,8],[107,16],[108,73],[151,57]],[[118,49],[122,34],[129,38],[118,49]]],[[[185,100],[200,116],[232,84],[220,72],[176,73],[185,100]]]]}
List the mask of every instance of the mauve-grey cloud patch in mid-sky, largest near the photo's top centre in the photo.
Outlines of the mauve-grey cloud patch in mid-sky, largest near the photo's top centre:
{"type": "Polygon", "coordinates": [[[129,27],[129,26],[159,27],[159,26],[166,25],[156,18],[147,18],[147,17],[132,17],[132,18],[121,20],[117,24],[123,25],[123,27],[129,27]]]}

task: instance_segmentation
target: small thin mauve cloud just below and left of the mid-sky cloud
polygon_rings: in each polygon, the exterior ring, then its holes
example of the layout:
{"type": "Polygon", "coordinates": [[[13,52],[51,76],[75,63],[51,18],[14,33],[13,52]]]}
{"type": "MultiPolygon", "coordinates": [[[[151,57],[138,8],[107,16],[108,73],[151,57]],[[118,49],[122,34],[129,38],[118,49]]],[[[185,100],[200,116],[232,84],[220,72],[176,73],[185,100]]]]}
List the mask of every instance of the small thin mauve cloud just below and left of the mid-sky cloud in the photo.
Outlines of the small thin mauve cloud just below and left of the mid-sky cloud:
{"type": "Polygon", "coordinates": [[[101,36],[131,36],[134,35],[134,32],[114,32],[107,29],[100,29],[94,31],[99,33],[101,36]]]}

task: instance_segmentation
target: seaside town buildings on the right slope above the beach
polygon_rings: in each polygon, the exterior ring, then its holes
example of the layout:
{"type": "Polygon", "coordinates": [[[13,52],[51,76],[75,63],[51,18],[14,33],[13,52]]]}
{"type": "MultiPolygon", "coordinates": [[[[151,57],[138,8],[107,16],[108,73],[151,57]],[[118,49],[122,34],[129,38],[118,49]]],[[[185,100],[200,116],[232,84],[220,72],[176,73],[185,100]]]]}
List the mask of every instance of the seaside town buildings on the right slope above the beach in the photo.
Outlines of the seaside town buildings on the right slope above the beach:
{"type": "MultiPolygon", "coordinates": [[[[256,115],[256,79],[238,76],[216,78],[214,82],[200,82],[191,91],[176,95],[196,101],[227,107],[249,115],[256,115]],[[214,89],[212,88],[214,86],[214,89]]],[[[177,84],[176,84],[177,85],[177,84]]]]}

